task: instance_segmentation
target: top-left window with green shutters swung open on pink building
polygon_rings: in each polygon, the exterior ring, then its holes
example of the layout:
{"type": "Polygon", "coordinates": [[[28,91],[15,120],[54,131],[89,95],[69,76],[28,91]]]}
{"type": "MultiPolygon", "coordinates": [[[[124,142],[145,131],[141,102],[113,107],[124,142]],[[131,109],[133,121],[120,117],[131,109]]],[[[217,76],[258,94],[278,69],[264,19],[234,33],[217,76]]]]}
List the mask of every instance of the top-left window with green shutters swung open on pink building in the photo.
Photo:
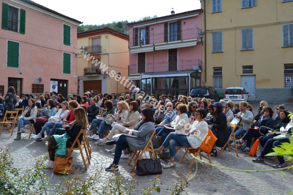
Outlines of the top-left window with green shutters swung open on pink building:
{"type": "Polygon", "coordinates": [[[25,34],[25,10],[2,3],[2,29],[25,34]]]}

